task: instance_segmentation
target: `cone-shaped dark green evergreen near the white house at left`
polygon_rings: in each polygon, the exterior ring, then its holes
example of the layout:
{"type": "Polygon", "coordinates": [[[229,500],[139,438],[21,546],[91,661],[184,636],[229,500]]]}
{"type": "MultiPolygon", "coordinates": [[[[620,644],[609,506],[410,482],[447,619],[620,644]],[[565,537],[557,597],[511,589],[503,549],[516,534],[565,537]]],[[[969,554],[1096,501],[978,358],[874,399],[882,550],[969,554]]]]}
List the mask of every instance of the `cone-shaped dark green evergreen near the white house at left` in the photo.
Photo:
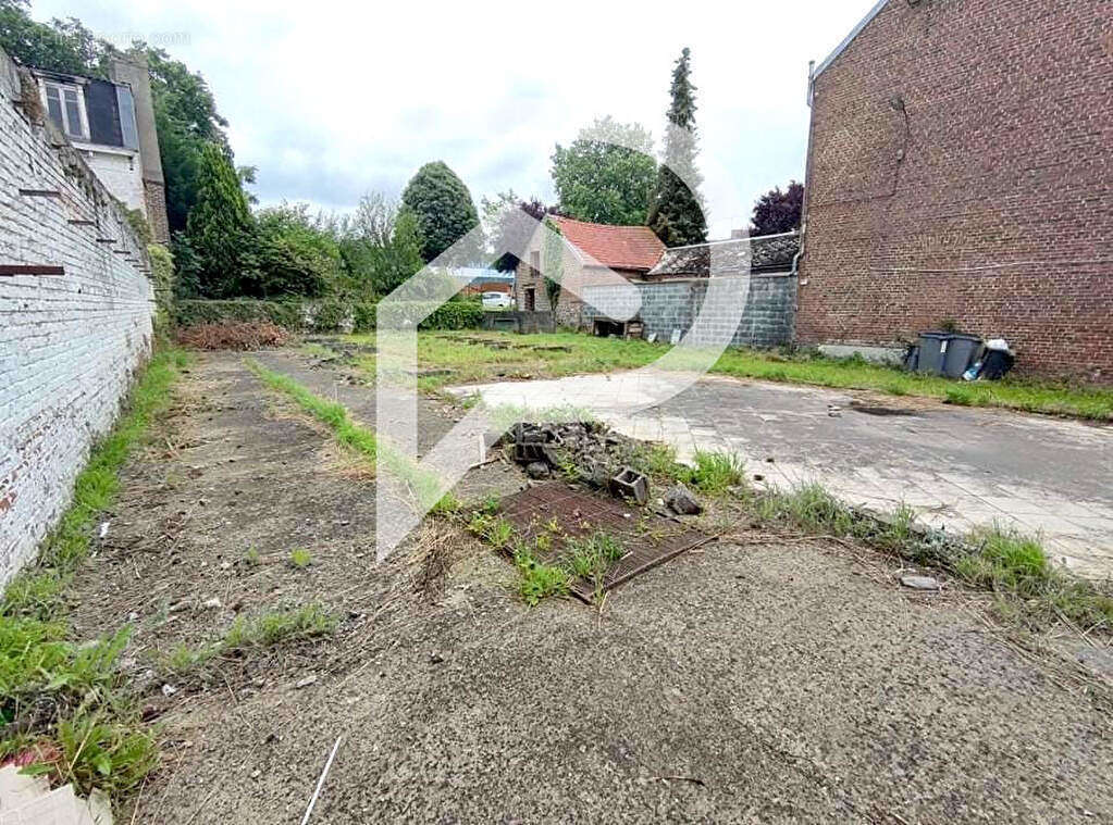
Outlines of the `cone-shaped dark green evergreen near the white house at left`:
{"type": "Polygon", "coordinates": [[[186,232],[197,255],[197,288],[209,298],[240,294],[250,266],[255,227],[232,161],[216,143],[201,150],[197,203],[186,232]]]}

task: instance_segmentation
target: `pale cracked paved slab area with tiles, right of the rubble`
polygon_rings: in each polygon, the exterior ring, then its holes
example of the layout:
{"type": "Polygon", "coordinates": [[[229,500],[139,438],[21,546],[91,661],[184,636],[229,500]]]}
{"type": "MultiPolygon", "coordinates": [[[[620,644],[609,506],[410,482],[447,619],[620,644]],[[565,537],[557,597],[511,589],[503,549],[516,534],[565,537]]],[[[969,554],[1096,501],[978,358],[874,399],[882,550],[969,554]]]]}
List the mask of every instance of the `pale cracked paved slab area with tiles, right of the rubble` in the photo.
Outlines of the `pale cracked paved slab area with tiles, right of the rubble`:
{"type": "Polygon", "coordinates": [[[632,375],[453,391],[479,392],[491,406],[583,406],[620,433],[672,444],[681,460],[696,450],[735,451],[762,484],[818,481],[849,504],[877,509],[904,503],[922,521],[948,530],[1015,526],[1042,535],[1076,573],[1113,576],[1113,428],[711,376],[631,412],[629,388],[649,397],[659,380],[640,372],[630,381],[632,375]]]}

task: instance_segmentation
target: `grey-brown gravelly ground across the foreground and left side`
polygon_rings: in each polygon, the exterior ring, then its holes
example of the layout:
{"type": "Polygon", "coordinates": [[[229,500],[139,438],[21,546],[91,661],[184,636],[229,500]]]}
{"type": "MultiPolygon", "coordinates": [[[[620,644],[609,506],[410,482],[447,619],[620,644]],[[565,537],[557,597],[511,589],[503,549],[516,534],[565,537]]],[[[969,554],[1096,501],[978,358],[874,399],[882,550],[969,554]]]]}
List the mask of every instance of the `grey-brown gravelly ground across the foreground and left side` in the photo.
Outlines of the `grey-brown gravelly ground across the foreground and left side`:
{"type": "MultiPolygon", "coordinates": [[[[265,357],[335,382],[296,354],[265,357]]],[[[79,627],[137,609],[142,673],[236,604],[313,598],[344,622],[169,698],[155,684],[167,757],[136,822],[299,822],[337,737],[313,823],[1113,818],[1109,689],[1017,650],[961,594],[908,594],[876,559],[742,531],[619,588],[602,614],[529,609],[511,567],[449,527],[375,567],[373,483],[239,357],[201,356],[181,399],[160,434],[177,448],[129,465],[115,541],[78,582],[79,627]],[[173,548],[137,548],[181,510],[173,548]],[[248,545],[269,563],[221,567],[248,545]],[[295,573],[290,546],[319,560],[295,573]],[[167,623],[156,588],[175,604],[218,593],[223,608],[167,623]]]]}

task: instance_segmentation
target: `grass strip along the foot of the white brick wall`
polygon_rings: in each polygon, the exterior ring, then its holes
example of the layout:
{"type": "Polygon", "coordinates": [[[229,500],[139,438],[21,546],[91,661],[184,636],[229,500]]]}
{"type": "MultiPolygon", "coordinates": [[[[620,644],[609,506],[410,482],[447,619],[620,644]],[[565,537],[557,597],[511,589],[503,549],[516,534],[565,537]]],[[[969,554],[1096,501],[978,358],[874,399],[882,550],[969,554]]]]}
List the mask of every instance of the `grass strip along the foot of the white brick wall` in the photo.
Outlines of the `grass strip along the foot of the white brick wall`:
{"type": "Polygon", "coordinates": [[[169,405],[187,360],[164,349],[147,365],[116,426],[90,453],[38,560],[8,585],[0,604],[0,717],[16,732],[0,742],[0,756],[38,753],[32,773],[52,773],[82,793],[93,786],[129,793],[158,763],[117,668],[130,627],[91,643],[71,640],[63,595],[89,554],[97,517],[116,498],[120,468],[169,405]]]}

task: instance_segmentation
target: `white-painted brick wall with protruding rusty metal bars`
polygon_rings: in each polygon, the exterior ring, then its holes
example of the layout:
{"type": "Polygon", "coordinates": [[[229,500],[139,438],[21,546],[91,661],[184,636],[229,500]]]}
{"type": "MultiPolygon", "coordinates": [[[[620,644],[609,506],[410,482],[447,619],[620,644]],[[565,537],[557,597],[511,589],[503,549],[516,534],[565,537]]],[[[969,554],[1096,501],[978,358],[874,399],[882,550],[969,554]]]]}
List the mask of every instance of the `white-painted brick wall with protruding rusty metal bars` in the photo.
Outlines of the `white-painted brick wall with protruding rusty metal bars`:
{"type": "Polygon", "coordinates": [[[0,583],[68,505],[150,351],[154,311],[146,249],[21,87],[0,51],[0,265],[65,275],[0,276],[0,583]]]}

